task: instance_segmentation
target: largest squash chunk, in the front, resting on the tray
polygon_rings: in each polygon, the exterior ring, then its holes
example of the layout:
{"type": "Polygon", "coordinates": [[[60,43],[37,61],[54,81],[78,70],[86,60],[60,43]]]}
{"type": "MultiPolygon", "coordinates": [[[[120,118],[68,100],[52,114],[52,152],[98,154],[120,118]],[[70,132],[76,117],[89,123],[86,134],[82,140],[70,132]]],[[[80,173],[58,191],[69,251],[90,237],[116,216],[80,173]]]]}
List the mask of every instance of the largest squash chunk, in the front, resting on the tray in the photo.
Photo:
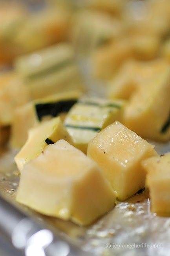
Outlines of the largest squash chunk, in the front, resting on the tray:
{"type": "Polygon", "coordinates": [[[93,160],[60,139],[24,165],[16,200],[45,215],[88,225],[113,208],[115,193],[93,160]]]}

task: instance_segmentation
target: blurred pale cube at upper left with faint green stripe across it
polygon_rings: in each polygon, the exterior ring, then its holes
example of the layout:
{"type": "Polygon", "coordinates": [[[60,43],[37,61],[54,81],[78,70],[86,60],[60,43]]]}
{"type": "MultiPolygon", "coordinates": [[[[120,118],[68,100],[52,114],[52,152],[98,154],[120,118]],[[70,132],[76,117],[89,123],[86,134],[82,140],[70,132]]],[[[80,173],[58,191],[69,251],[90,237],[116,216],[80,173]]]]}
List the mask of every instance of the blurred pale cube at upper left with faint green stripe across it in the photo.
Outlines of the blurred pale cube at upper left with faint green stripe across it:
{"type": "Polygon", "coordinates": [[[32,100],[68,90],[82,90],[74,51],[66,43],[18,57],[14,67],[22,75],[32,100]]]}

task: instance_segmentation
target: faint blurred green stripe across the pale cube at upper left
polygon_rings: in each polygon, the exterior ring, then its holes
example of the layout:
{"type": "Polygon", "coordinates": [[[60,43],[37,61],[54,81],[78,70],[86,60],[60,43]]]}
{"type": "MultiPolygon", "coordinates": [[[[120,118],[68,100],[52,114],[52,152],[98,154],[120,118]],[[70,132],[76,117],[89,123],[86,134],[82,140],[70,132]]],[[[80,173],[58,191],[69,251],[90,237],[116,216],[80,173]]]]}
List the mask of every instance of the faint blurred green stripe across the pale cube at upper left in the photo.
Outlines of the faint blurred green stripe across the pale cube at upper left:
{"type": "Polygon", "coordinates": [[[37,79],[39,77],[44,77],[46,75],[49,75],[53,72],[56,72],[60,69],[62,69],[65,66],[68,66],[69,64],[73,63],[73,59],[66,59],[64,61],[61,61],[60,63],[57,63],[55,65],[53,65],[52,67],[49,67],[47,69],[44,70],[40,70],[39,72],[35,73],[35,74],[30,74],[29,76],[27,76],[27,80],[33,80],[33,79],[37,79]]]}

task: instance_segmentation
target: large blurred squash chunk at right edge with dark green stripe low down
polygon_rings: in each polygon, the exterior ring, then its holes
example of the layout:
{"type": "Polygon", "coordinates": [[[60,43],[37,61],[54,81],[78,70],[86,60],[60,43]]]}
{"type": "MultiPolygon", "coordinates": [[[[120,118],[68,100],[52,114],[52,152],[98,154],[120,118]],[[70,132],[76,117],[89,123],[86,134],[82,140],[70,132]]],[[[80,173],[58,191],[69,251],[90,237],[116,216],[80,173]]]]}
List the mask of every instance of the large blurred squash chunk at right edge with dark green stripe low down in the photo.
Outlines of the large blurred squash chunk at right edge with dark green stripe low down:
{"type": "Polygon", "coordinates": [[[143,138],[170,139],[170,65],[144,81],[124,109],[124,125],[143,138]]]}

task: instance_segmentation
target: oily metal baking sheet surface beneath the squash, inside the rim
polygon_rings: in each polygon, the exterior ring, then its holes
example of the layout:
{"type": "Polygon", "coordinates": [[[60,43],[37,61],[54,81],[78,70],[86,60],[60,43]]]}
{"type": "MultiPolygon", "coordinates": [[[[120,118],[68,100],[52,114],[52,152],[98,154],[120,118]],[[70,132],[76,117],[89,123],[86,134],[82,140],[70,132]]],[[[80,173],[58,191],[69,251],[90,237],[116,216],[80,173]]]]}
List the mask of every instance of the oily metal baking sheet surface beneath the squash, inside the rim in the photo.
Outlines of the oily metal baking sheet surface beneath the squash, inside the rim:
{"type": "MultiPolygon", "coordinates": [[[[165,153],[169,148],[170,143],[156,144],[159,153],[165,153]]],[[[19,172],[13,160],[16,153],[16,150],[9,149],[1,153],[0,194],[30,217],[49,226],[57,235],[94,255],[170,255],[170,218],[150,213],[148,191],[136,194],[126,202],[118,202],[112,211],[88,227],[46,217],[17,204],[15,194],[19,172]]]]}

